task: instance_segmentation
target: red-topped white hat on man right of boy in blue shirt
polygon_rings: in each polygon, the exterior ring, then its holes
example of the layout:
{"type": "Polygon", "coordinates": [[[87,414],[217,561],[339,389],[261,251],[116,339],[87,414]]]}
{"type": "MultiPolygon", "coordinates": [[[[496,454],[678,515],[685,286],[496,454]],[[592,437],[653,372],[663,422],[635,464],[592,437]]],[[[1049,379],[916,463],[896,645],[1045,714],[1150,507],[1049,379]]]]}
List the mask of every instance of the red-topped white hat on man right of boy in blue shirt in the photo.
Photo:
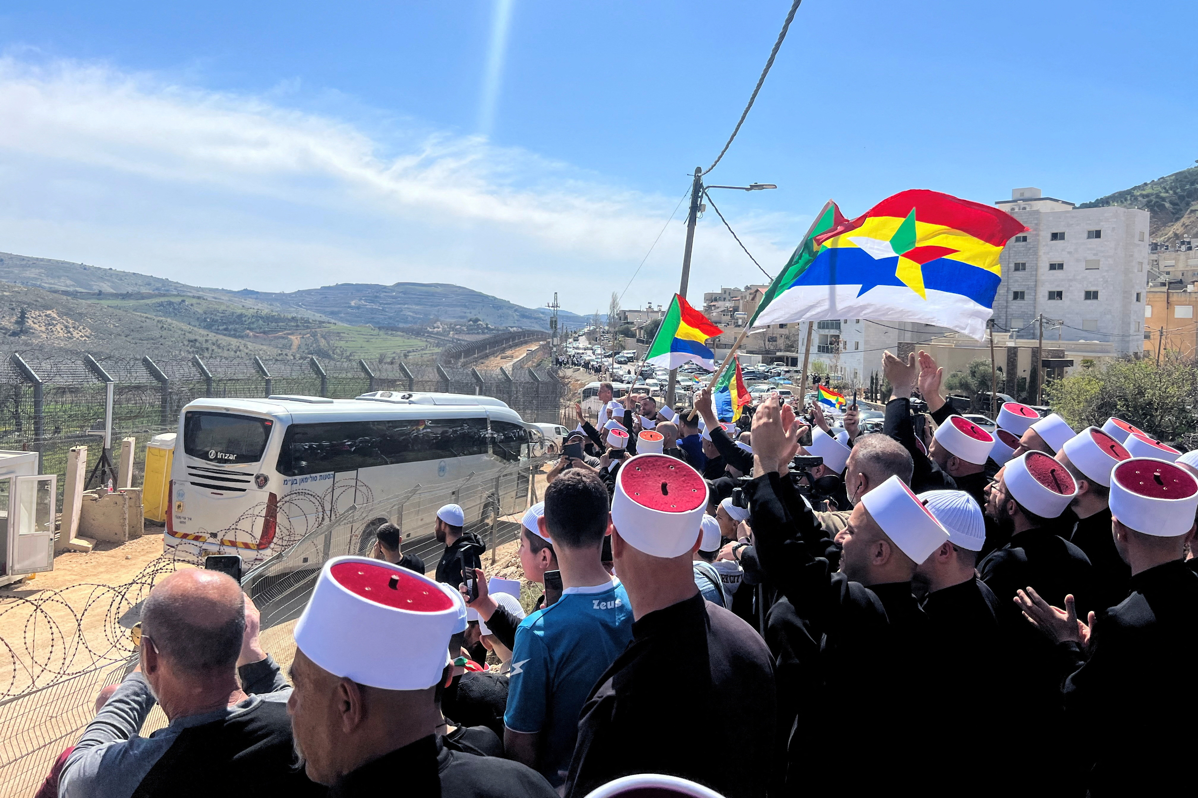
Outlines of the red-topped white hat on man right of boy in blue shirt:
{"type": "Polygon", "coordinates": [[[637,455],[616,476],[611,520],[633,548],[658,558],[680,556],[698,542],[707,482],[668,455],[637,455]]]}

